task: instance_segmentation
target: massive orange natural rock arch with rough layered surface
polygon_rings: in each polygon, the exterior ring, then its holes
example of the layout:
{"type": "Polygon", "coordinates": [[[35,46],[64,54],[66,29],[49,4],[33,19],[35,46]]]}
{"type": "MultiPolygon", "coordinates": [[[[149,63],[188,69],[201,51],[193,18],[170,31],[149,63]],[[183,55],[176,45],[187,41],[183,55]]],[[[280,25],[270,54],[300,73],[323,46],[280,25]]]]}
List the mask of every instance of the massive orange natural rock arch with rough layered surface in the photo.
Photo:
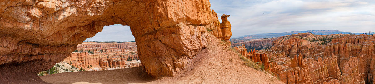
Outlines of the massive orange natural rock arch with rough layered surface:
{"type": "Polygon", "coordinates": [[[173,76],[207,46],[210,37],[220,38],[215,32],[220,24],[208,0],[3,0],[0,4],[0,80],[37,78],[37,72],[65,59],[104,25],[130,26],[139,59],[154,77],[173,76]]]}

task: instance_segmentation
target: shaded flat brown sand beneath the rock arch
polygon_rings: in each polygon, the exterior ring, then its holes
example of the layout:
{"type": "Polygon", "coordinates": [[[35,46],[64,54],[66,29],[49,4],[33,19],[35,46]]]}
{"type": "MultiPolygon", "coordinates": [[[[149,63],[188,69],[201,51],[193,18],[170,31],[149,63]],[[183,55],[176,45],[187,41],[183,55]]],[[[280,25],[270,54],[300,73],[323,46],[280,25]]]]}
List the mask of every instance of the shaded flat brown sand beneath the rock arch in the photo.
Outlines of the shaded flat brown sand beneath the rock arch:
{"type": "Polygon", "coordinates": [[[52,84],[128,84],[148,83],[150,81],[157,80],[150,75],[147,75],[141,66],[105,71],[66,72],[61,74],[40,76],[39,78],[52,84]]]}

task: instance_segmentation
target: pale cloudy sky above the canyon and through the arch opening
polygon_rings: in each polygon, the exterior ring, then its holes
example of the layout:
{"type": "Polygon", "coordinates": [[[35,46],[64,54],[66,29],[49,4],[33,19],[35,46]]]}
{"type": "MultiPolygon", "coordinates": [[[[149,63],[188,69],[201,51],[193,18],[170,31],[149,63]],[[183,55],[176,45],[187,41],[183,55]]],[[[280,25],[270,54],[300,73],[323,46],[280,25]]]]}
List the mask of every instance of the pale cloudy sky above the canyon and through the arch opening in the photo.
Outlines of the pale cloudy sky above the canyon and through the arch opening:
{"type": "MultiPolygon", "coordinates": [[[[211,9],[231,15],[232,37],[330,30],[375,32],[375,0],[210,0],[211,9]]],[[[220,19],[220,18],[219,18],[220,19]]],[[[105,26],[86,41],[134,41],[129,26],[105,26]]]]}

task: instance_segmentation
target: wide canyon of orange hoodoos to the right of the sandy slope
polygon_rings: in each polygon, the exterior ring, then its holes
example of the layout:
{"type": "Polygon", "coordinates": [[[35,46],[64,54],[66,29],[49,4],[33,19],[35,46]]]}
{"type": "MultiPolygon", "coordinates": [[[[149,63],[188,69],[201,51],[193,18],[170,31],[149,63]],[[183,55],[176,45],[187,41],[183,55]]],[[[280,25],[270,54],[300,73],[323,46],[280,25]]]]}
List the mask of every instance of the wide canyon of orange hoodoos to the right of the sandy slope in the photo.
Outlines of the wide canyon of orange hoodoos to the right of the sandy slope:
{"type": "Polygon", "coordinates": [[[286,84],[371,84],[374,41],[374,35],[302,33],[279,37],[266,50],[236,48],[286,84]]]}

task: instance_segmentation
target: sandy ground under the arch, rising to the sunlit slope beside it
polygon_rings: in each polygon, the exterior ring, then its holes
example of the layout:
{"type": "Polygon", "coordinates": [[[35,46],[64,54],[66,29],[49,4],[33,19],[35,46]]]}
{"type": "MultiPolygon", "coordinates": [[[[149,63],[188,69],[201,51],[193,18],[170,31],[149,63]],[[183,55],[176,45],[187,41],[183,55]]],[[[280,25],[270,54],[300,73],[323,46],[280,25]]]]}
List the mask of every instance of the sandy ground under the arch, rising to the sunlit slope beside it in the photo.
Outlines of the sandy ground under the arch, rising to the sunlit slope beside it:
{"type": "Polygon", "coordinates": [[[40,76],[52,84],[284,84],[264,71],[258,71],[243,64],[229,46],[216,40],[202,50],[184,71],[175,77],[154,79],[145,74],[142,67],[106,71],[67,72],[40,76]],[[231,60],[232,59],[232,60],[231,60]]]}

